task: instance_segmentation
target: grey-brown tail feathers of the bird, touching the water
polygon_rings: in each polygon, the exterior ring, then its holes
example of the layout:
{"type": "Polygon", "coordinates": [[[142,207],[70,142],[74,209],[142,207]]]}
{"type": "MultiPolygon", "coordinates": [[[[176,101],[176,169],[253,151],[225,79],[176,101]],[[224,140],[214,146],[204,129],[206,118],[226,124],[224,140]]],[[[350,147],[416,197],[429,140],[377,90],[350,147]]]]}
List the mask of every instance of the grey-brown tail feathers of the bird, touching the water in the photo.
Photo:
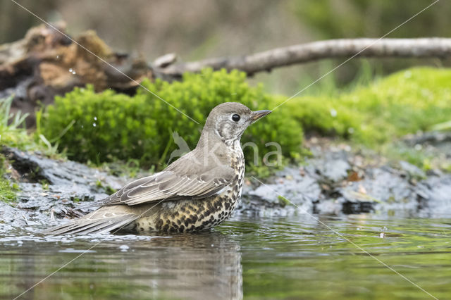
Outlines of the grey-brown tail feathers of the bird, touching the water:
{"type": "Polygon", "coordinates": [[[99,208],[84,217],[67,224],[43,230],[45,235],[88,235],[91,233],[106,233],[120,230],[138,218],[135,213],[123,211],[121,207],[113,206],[99,208]]]}

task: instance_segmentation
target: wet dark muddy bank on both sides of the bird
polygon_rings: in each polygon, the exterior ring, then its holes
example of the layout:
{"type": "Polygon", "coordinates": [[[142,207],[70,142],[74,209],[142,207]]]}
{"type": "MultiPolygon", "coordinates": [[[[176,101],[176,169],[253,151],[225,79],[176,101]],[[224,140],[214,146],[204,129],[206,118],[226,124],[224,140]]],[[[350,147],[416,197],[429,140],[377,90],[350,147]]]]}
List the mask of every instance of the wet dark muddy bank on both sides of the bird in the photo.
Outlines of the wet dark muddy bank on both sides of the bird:
{"type": "MultiPolygon", "coordinates": [[[[320,215],[451,215],[450,173],[440,169],[426,173],[406,161],[387,161],[353,151],[347,144],[313,140],[306,142],[312,155],[303,163],[288,165],[269,178],[247,177],[237,211],[247,215],[292,215],[299,210],[320,215]]],[[[437,145],[433,149],[439,151],[437,145]]],[[[59,225],[61,219],[80,217],[96,209],[95,201],[130,181],[73,161],[11,148],[3,153],[10,163],[9,176],[20,187],[18,201],[12,205],[0,201],[1,220],[11,228],[33,231],[34,225],[59,225]]],[[[440,153],[451,158],[446,151],[440,153]]],[[[144,175],[149,174],[138,177],[144,175]]]]}

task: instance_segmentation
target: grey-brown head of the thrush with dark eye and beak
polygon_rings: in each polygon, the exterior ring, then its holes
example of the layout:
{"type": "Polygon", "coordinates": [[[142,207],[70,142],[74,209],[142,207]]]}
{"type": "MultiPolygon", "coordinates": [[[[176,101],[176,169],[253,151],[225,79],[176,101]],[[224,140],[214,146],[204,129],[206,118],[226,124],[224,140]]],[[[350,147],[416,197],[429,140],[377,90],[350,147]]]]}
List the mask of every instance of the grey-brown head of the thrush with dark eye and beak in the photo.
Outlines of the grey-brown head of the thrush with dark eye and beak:
{"type": "Polygon", "coordinates": [[[247,126],[271,111],[251,111],[247,106],[236,102],[219,104],[206,119],[204,131],[218,135],[226,144],[239,141],[247,126]]]}

